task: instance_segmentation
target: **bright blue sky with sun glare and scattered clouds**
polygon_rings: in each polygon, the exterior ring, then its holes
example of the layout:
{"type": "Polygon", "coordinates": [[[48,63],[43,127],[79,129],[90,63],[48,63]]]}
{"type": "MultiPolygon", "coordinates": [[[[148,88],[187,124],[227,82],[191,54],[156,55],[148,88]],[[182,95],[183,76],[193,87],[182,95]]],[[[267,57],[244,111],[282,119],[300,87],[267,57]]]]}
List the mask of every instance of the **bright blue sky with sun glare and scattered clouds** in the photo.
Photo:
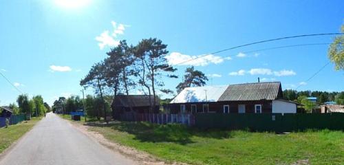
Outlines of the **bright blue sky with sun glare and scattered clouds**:
{"type": "MultiPolygon", "coordinates": [[[[344,1],[71,1],[0,0],[0,72],[25,94],[41,94],[48,103],[80,95],[80,79],[121,39],[136,44],[157,37],[168,44],[169,63],[175,64],[254,41],[339,32],[344,23],[344,1]]],[[[211,77],[208,85],[252,83],[260,77],[281,81],[283,89],[301,84],[299,90],[343,91],[343,71],[333,64],[306,82],[328,63],[328,45],[254,51],[330,43],[332,37],[242,47],[177,66],[176,74],[182,77],[195,65],[211,77]]],[[[180,81],[166,80],[165,88],[175,89],[180,81]]],[[[19,95],[4,78],[0,91],[0,104],[19,95]]]]}

